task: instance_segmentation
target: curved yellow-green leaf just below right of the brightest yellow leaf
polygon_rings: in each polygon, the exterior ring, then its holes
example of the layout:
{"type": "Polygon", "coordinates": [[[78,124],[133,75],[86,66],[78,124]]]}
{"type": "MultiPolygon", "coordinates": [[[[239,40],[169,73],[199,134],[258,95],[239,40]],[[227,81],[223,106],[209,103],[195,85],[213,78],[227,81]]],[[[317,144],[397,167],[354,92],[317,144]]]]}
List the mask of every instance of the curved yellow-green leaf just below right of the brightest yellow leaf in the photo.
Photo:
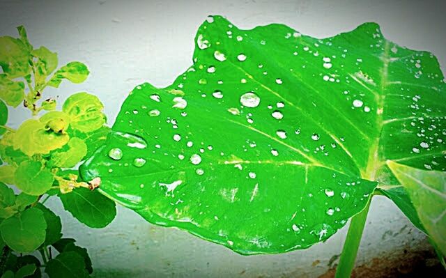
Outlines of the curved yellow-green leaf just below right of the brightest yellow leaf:
{"type": "Polygon", "coordinates": [[[68,150],[52,153],[50,164],[60,168],[75,167],[86,155],[87,146],[82,139],[71,138],[67,145],[68,150]]]}

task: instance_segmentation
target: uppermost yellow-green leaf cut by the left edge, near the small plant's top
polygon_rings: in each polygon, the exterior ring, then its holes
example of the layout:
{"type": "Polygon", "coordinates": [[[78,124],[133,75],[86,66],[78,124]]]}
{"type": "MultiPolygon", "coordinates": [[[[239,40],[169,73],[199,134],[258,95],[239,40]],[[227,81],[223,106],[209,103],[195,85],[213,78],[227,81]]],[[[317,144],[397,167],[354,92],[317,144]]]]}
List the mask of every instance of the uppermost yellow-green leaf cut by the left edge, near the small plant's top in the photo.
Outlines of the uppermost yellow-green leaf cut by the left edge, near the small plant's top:
{"type": "Polygon", "coordinates": [[[27,75],[29,67],[29,49],[17,38],[0,37],[0,67],[8,77],[23,77],[27,75]]]}

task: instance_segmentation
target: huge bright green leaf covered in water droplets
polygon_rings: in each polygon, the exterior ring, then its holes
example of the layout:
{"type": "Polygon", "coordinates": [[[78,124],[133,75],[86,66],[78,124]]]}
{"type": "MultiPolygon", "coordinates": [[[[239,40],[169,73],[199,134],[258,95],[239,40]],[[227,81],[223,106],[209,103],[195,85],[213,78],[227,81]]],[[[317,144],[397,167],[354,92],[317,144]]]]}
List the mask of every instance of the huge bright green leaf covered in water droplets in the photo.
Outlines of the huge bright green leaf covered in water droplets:
{"type": "Polygon", "coordinates": [[[81,167],[149,222],[242,254],[286,252],[344,226],[375,180],[392,185],[386,160],[445,170],[438,62],[377,24],[318,39],[211,17],[196,41],[174,84],[134,88],[81,167]]]}

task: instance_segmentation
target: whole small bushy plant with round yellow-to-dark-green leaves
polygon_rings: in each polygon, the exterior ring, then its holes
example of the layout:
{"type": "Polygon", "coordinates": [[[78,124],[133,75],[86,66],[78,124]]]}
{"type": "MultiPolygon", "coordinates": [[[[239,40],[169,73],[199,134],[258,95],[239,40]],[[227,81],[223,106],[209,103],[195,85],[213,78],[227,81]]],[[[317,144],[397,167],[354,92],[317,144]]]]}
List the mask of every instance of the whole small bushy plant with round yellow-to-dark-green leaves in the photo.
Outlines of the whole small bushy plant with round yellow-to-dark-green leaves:
{"type": "Polygon", "coordinates": [[[92,191],[100,181],[85,183],[73,170],[107,137],[103,106],[86,92],[70,95],[61,111],[56,98],[42,100],[47,86],[58,88],[64,79],[82,83],[89,70],[79,62],[57,69],[55,52],[34,48],[24,27],[18,31],[20,38],[0,38],[0,274],[40,277],[45,268],[49,277],[89,277],[86,249],[63,238],[61,219],[45,202],[59,196],[68,212],[93,228],[114,219],[114,201],[92,191]],[[6,125],[7,105],[20,104],[31,118],[15,130],[6,125]]]}

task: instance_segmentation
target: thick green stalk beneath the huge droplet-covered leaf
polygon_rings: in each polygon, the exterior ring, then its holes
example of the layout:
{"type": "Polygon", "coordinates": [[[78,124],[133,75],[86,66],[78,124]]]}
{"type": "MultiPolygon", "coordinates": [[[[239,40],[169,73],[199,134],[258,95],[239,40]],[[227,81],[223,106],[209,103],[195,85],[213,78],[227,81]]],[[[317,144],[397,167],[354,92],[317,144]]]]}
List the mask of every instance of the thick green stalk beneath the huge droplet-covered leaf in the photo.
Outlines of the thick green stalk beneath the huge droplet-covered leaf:
{"type": "Polygon", "coordinates": [[[351,219],[346,241],[344,242],[344,248],[342,249],[341,258],[339,258],[339,264],[337,265],[336,275],[334,278],[346,278],[351,276],[351,272],[355,267],[356,254],[360,247],[362,231],[364,231],[367,213],[369,213],[370,202],[371,198],[369,199],[369,203],[367,203],[364,210],[351,219]]]}

